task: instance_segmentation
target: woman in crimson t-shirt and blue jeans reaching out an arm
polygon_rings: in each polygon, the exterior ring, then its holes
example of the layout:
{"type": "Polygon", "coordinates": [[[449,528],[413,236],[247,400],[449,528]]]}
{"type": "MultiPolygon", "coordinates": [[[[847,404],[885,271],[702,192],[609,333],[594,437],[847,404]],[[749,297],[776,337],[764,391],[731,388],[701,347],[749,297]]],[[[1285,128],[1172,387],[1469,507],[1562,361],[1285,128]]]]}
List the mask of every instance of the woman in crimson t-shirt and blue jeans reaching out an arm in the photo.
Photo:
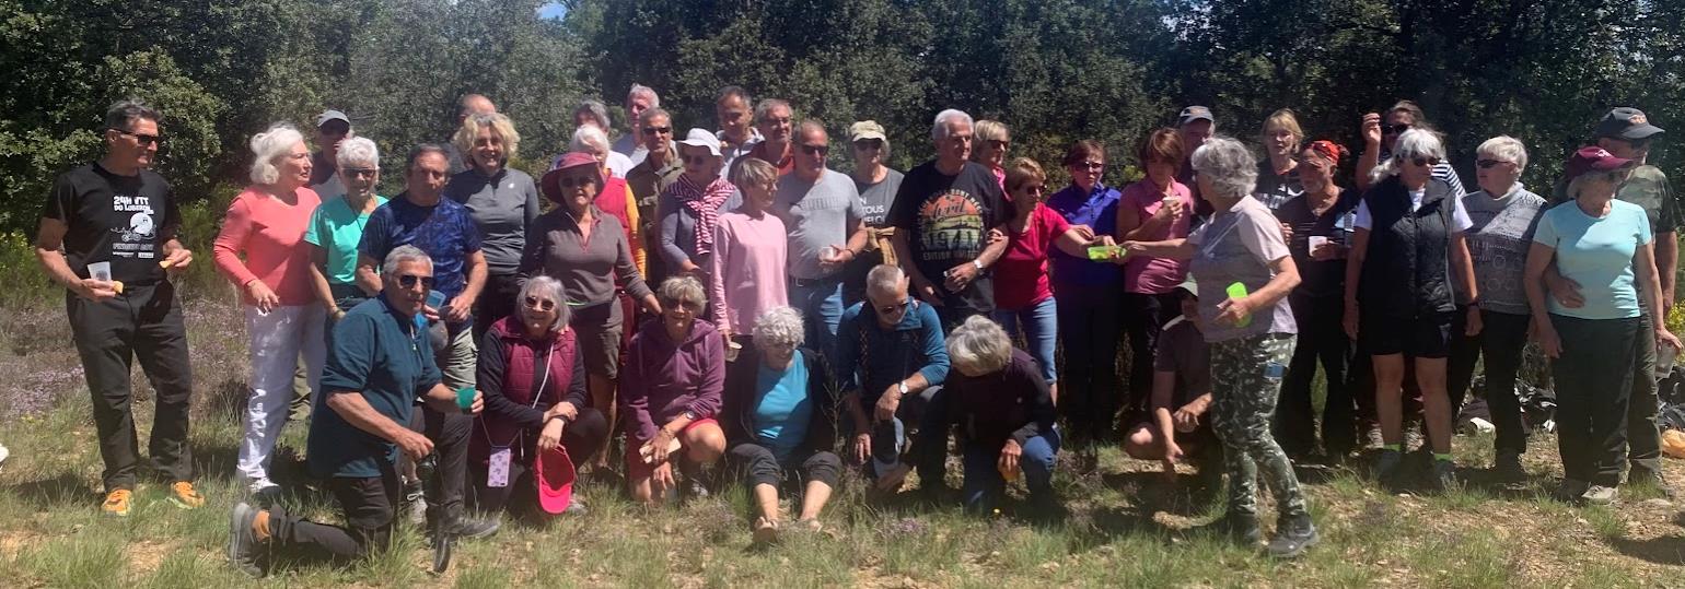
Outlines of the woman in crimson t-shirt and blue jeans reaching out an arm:
{"type": "Polygon", "coordinates": [[[1110,244],[1110,237],[1095,237],[1089,226],[1072,226],[1065,215],[1041,205],[1048,175],[1036,160],[1018,158],[1004,172],[1006,197],[1018,205],[1018,217],[1006,222],[1006,254],[994,263],[994,321],[1014,338],[1023,323],[1026,352],[1040,365],[1058,402],[1058,372],[1053,369],[1058,306],[1048,283],[1048,251],[1058,247],[1087,257],[1090,244],[1110,244]]]}

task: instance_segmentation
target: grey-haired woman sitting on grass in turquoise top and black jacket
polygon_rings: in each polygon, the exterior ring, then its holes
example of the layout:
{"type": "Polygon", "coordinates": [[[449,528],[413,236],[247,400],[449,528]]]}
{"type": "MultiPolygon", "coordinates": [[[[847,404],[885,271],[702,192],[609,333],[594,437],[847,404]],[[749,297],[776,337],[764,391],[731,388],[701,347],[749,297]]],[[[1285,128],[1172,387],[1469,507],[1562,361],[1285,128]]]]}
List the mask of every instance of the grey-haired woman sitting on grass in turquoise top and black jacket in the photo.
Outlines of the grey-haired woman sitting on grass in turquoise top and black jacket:
{"type": "Polygon", "coordinates": [[[778,535],[778,490],[800,490],[797,525],[819,530],[819,512],[842,476],[834,382],[824,357],[802,348],[802,315],[773,306],[755,320],[755,347],[726,367],[726,459],[755,498],[755,542],[778,535]]]}

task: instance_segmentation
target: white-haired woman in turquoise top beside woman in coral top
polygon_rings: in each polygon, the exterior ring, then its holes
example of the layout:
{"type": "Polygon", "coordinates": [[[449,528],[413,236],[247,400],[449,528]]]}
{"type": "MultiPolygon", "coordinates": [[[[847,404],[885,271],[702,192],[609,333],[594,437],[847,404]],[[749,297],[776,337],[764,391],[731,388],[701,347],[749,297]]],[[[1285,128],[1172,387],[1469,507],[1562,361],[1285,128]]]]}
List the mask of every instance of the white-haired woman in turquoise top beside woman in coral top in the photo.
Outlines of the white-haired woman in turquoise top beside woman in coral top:
{"type": "Polygon", "coordinates": [[[374,185],[381,183],[381,151],[374,141],[349,138],[339,146],[335,160],[345,182],[345,195],[317,207],[305,229],[305,242],[312,246],[310,279],[327,308],[329,326],[381,291],[379,284],[357,281],[357,242],[362,241],[369,214],[386,204],[384,197],[374,194],[374,185]]]}

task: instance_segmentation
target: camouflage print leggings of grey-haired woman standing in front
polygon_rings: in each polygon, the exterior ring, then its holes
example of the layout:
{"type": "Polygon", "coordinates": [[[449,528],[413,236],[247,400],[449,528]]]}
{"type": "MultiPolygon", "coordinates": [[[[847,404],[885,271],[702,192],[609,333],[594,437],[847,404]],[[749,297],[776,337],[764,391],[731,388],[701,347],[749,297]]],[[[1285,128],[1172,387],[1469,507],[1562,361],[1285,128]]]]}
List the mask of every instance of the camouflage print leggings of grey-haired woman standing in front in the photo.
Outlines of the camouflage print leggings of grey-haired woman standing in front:
{"type": "Polygon", "coordinates": [[[1212,343],[1212,426],[1223,441],[1230,513],[1257,513],[1260,471],[1281,515],[1304,513],[1299,480],[1269,431],[1292,340],[1292,333],[1264,333],[1212,343]]]}

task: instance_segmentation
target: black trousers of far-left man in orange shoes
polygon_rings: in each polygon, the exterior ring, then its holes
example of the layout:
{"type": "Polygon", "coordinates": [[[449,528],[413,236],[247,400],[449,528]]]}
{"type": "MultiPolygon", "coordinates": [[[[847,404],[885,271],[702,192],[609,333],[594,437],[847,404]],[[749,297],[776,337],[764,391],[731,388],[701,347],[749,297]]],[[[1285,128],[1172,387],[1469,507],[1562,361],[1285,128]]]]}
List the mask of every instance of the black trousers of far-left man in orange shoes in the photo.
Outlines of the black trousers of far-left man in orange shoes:
{"type": "Polygon", "coordinates": [[[123,294],[99,303],[72,293],[66,293],[64,298],[71,337],[83,358],[88,392],[93,397],[106,491],[135,488],[140,441],[135,434],[135,414],[130,407],[133,390],[128,379],[136,358],[155,395],[148,444],[152,461],[158,475],[172,481],[194,478],[192,456],[187,449],[194,379],[187,362],[187,326],[182,321],[182,306],[175,300],[175,286],[167,281],[126,286],[123,294]]]}

